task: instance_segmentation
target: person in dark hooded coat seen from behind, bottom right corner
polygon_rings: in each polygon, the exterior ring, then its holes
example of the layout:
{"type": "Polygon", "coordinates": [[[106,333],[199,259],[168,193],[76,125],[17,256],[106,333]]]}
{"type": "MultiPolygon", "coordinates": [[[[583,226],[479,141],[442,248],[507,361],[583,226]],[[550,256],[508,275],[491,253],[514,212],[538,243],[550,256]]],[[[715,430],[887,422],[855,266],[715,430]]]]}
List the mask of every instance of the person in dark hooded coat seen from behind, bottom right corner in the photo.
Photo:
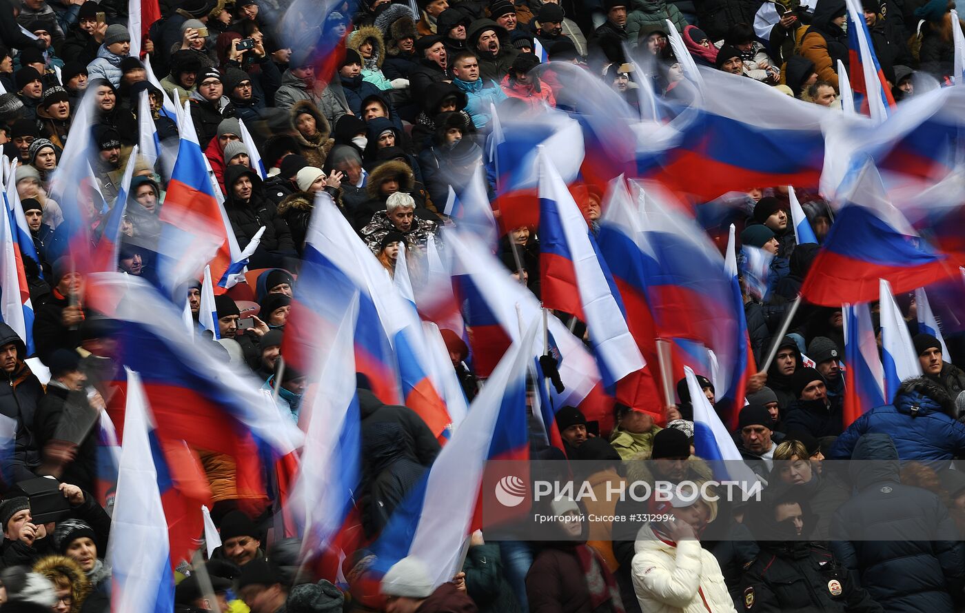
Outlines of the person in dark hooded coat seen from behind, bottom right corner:
{"type": "Polygon", "coordinates": [[[851,481],[859,492],[831,522],[831,548],[890,613],[955,610],[965,579],[965,543],[958,541],[938,496],[902,486],[895,444],[887,434],[862,436],[851,481]]]}

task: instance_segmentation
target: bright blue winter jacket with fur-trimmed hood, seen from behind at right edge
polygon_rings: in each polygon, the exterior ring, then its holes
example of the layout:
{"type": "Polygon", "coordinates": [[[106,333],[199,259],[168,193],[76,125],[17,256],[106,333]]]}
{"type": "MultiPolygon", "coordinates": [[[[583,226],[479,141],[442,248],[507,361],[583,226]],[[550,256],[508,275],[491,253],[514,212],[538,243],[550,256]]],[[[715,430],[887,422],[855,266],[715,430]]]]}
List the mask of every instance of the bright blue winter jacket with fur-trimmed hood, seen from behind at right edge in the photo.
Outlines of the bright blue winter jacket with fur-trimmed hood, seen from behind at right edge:
{"type": "Polygon", "coordinates": [[[951,460],[965,454],[965,425],[919,392],[902,394],[896,397],[895,404],[872,408],[856,419],[838,437],[830,458],[851,458],[858,439],[870,432],[891,436],[900,460],[951,460]]]}

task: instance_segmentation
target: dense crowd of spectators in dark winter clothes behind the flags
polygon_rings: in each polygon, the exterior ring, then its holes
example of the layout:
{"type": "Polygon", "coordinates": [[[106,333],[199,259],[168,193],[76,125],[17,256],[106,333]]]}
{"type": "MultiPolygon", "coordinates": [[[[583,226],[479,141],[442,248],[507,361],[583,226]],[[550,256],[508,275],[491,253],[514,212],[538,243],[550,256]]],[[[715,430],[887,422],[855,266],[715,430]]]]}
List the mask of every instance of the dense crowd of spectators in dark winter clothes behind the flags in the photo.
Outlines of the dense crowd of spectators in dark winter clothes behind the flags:
{"type": "MultiPolygon", "coordinates": [[[[959,27],[953,3],[861,5],[896,100],[915,96],[921,79],[949,82],[959,27]]],[[[51,190],[61,169],[84,162],[63,156],[69,140],[81,138],[72,125],[82,99],[93,99],[96,150],[94,181],[79,188],[85,236],[93,244],[106,237],[112,213],[123,208],[119,271],[149,281],[159,274],[162,211],[182,131],[166,107],[188,104],[230,232],[241,247],[260,237],[246,282],[214,297],[220,339],[212,342],[224,350],[226,369],[257,377],[297,423],[313,374],[286,367],[281,348],[320,192],[393,276],[400,253],[418,265],[430,243],[445,248],[440,230],[457,225],[447,202],[486,163],[494,113],[511,109],[525,119],[545,108],[573,111],[581,93],[565,86],[554,63],[593,75],[638,111],[641,87],[669,104],[691,101],[693,90],[681,86],[681,66],[690,63],[841,108],[838,70],[849,65],[843,0],[364,0],[308,9],[286,0],[162,0],[159,11],[137,49],[126,2],[0,0],[0,144],[16,160],[7,184],[37,255],[20,258],[36,314],[30,348],[0,323],[0,368],[9,382],[0,390],[0,416],[15,424],[3,458],[0,613],[111,606],[104,558],[112,492],[101,483],[96,423],[112,403],[123,404],[115,385],[123,366],[118,324],[91,308],[71,252],[76,220],[69,217],[77,211],[62,209],[51,190]],[[316,23],[313,11],[323,12],[316,23]],[[677,36],[682,48],[671,43],[677,36]],[[688,57],[677,57],[684,51],[688,57]],[[145,125],[172,155],[152,161],[133,153],[145,125]]],[[[498,185],[489,170],[492,198],[498,185]]],[[[603,194],[582,187],[578,204],[596,234],[603,194]]],[[[798,196],[823,241],[834,223],[829,203],[806,188],[798,196]]],[[[194,449],[221,544],[207,559],[172,561],[176,610],[962,610],[965,473],[952,460],[965,456],[965,373],[955,366],[965,364],[963,337],[919,329],[914,297],[896,296],[923,376],[847,423],[843,406],[852,392],[841,308],[806,304],[786,336],[777,336],[819,250],[796,244],[786,187],[749,189],[731,217],[743,245],[772,256],[766,290],[741,289],[756,362],[774,346],[776,355],[749,376],[747,404],[731,432],[764,485],[761,500],[557,499],[534,512],[559,519],[559,538],[489,540],[483,528],[468,540],[461,571],[441,586],[430,576],[432,561],[416,557],[378,571],[368,544],[441,446],[414,410],[384,404],[359,376],[364,478],[356,506],[365,544],[342,552],[337,576],[319,577],[299,544],[272,528],[281,499],[251,504],[236,487],[231,458],[194,449]],[[862,461],[841,468],[845,462],[830,460],[862,461]],[[671,518],[581,521],[588,512],[671,518]]],[[[539,296],[538,229],[503,230],[496,255],[505,274],[539,296]]],[[[201,280],[182,291],[199,338],[210,337],[201,280]]],[[[871,313],[877,333],[875,305],[871,313]]],[[[584,340],[593,333],[556,315],[584,340]]],[[[471,334],[470,345],[453,330],[443,329],[442,338],[471,401],[484,385],[470,359],[471,334]]],[[[699,375],[714,405],[711,374],[699,375]]],[[[531,459],[571,462],[573,475],[594,490],[712,479],[695,442],[701,426],[685,380],[662,415],[610,404],[589,418],[560,408],[553,429],[562,448],[546,445],[552,436],[530,410],[531,459]],[[592,472],[580,467],[584,460],[593,461],[592,472]]]]}

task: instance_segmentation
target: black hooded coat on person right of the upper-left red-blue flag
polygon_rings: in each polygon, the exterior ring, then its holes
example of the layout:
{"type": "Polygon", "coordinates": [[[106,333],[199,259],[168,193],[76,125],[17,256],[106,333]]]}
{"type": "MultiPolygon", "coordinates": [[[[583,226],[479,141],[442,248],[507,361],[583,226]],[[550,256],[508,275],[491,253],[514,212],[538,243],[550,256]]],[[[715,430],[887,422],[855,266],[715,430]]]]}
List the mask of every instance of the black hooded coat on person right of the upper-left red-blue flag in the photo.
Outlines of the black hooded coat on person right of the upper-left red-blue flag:
{"type": "MultiPolygon", "coordinates": [[[[255,256],[265,256],[269,252],[287,255],[295,253],[289,225],[278,215],[274,203],[264,197],[262,179],[258,174],[244,166],[229,166],[225,171],[225,189],[228,192],[225,209],[240,248],[244,249],[263,226],[262,242],[255,251],[255,256]],[[252,194],[248,202],[235,200],[231,187],[234,181],[243,175],[247,175],[252,182],[252,194]]],[[[253,260],[255,256],[252,256],[253,260]]]]}

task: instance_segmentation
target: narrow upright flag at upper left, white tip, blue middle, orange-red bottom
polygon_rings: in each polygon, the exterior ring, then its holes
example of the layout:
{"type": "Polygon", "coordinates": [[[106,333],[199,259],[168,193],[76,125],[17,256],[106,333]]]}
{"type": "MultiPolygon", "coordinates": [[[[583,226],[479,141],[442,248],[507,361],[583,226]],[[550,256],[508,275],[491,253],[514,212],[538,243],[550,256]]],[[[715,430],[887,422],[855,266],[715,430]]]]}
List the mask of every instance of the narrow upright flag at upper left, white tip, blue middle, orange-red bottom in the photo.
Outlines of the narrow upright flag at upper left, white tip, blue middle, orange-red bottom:
{"type": "MultiPolygon", "coordinates": [[[[207,175],[207,158],[198,144],[198,135],[191,121],[191,104],[184,103],[183,121],[179,125],[180,147],[175,168],[171,173],[168,191],[161,207],[161,221],[181,231],[201,230],[217,237],[219,247],[211,261],[211,278],[218,279],[215,293],[228,291],[229,275],[241,272],[244,258],[234,237],[224,205],[219,202],[207,175]]],[[[218,191],[220,195],[220,190],[218,191]]]]}

